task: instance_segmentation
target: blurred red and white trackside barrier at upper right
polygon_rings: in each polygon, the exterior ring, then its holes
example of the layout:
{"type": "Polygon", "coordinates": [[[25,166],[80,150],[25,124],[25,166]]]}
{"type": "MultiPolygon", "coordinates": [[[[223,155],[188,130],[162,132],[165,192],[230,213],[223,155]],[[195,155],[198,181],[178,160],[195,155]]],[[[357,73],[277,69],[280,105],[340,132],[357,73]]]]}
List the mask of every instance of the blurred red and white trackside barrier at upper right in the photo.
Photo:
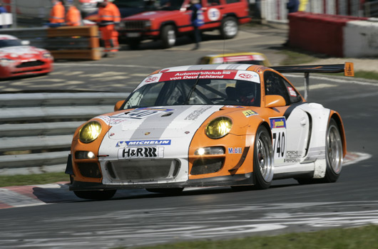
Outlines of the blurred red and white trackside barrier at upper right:
{"type": "Polygon", "coordinates": [[[289,15],[289,44],[335,57],[378,55],[374,18],[296,12],[289,15]]]}

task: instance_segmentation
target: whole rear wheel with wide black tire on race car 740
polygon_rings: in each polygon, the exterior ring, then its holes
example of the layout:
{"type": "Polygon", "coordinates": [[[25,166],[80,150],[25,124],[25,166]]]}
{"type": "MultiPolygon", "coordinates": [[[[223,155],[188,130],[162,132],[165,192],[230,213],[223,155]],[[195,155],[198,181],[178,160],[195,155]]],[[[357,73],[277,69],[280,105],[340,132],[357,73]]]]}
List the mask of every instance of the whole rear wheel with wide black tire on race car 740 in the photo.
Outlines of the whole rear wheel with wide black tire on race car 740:
{"type": "Polygon", "coordinates": [[[327,127],[325,159],[327,168],[325,177],[322,179],[297,179],[300,184],[320,184],[337,181],[342,170],[342,159],[344,151],[342,149],[342,137],[337,122],[332,118],[327,127]]]}

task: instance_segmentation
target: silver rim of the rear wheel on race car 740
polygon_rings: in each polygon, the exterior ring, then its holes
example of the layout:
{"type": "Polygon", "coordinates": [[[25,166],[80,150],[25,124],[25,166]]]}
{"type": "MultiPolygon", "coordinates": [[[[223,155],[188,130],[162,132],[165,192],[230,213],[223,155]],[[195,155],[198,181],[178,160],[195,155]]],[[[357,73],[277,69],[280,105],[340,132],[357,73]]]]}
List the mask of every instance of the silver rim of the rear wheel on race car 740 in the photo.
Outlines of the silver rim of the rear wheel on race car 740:
{"type": "Polygon", "coordinates": [[[327,161],[332,171],[339,174],[342,169],[342,139],[335,124],[330,124],[328,128],[327,161]]]}

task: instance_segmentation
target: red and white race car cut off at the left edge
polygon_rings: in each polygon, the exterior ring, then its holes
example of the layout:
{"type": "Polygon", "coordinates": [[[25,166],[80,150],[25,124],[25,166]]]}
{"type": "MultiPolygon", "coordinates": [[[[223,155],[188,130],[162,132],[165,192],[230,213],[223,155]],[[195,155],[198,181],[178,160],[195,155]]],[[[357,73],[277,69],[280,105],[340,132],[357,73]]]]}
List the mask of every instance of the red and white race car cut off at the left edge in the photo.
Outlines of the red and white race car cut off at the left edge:
{"type": "Polygon", "coordinates": [[[42,48],[25,45],[14,36],[0,35],[0,79],[46,74],[53,70],[53,56],[42,48]]]}

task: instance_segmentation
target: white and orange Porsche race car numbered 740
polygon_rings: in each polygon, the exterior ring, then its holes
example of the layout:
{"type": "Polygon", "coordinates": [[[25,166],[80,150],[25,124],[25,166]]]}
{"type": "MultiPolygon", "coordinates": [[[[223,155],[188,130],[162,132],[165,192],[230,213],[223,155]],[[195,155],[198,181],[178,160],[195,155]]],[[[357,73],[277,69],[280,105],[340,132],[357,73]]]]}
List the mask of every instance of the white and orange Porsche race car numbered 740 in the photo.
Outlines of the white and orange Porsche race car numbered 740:
{"type": "Polygon", "coordinates": [[[157,70],[114,112],[78,127],[66,167],[70,190],[107,199],[117,189],[179,193],[189,186],[267,189],[285,178],[337,181],[346,154],[342,118],[306,102],[280,71],[347,69],[223,64],[157,70]]]}

